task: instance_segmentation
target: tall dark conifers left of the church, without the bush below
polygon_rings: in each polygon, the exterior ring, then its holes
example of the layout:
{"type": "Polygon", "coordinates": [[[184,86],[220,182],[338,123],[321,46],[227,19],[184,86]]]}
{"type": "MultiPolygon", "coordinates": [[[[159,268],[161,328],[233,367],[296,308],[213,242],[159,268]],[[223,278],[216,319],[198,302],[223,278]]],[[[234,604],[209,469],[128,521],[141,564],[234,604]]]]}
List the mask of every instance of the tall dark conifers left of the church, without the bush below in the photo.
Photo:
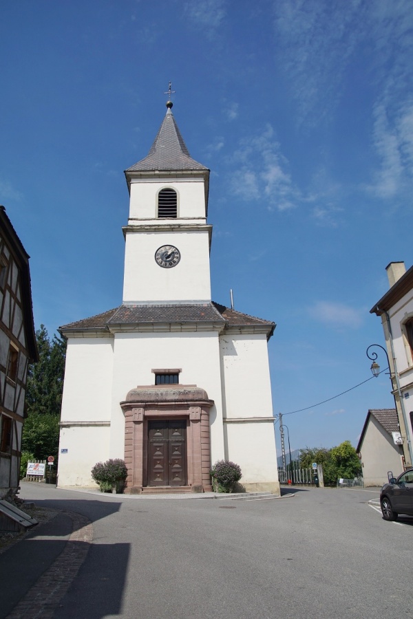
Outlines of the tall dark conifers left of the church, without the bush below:
{"type": "Polygon", "coordinates": [[[66,341],[53,336],[41,325],[36,331],[39,361],[30,365],[26,389],[28,414],[51,413],[60,415],[63,379],[65,377],[66,341]]]}

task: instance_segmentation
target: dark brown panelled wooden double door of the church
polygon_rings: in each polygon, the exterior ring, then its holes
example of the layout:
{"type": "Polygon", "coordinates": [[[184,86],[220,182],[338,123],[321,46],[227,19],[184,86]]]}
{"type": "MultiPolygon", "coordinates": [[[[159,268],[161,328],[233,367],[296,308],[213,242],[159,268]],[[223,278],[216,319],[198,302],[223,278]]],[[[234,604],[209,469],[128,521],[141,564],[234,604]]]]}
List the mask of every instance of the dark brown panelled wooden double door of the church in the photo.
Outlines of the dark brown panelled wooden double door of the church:
{"type": "Polygon", "coordinates": [[[148,486],[187,484],[187,420],[148,422],[148,486]]]}

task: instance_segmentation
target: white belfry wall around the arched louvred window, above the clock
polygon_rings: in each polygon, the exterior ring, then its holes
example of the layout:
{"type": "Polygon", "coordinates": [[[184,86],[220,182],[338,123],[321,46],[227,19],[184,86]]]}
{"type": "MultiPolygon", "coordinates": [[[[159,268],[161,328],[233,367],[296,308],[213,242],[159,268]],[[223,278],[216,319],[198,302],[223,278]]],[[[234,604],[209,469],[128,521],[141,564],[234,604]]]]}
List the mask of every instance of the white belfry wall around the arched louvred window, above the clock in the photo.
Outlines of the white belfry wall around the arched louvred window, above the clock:
{"type": "MultiPolygon", "coordinates": [[[[134,179],[131,182],[129,203],[129,220],[155,219],[157,217],[158,193],[161,189],[170,187],[178,196],[178,218],[205,217],[204,179],[178,179],[165,177],[160,179],[134,179]]],[[[170,220],[169,220],[170,221],[170,220]]],[[[129,221],[133,224],[134,221],[129,221]]],[[[160,225],[165,220],[158,219],[160,225]]]]}

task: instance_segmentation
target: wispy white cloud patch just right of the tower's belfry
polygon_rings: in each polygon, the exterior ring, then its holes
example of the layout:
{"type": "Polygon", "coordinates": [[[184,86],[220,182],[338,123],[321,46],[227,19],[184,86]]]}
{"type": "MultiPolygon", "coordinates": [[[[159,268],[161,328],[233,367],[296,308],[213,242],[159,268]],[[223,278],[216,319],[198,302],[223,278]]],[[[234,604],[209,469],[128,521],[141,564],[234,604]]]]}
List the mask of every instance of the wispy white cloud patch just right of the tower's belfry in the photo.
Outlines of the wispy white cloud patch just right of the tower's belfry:
{"type": "Polygon", "coordinates": [[[232,163],[237,164],[231,180],[233,194],[246,201],[262,199],[270,210],[295,206],[299,191],[293,186],[288,161],[271,124],[261,135],[240,140],[232,163]]]}

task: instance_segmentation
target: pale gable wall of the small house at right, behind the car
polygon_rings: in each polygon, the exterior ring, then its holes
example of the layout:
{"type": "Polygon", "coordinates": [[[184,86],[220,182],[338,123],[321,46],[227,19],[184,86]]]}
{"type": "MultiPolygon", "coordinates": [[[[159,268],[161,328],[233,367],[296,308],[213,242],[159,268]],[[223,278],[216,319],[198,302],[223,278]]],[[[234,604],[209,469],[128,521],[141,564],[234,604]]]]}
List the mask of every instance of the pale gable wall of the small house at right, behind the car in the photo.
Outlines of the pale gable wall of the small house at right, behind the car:
{"type": "Polygon", "coordinates": [[[394,445],[392,437],[372,415],[360,453],[365,486],[383,486],[388,481],[389,470],[395,477],[403,473],[399,448],[394,445]]]}

